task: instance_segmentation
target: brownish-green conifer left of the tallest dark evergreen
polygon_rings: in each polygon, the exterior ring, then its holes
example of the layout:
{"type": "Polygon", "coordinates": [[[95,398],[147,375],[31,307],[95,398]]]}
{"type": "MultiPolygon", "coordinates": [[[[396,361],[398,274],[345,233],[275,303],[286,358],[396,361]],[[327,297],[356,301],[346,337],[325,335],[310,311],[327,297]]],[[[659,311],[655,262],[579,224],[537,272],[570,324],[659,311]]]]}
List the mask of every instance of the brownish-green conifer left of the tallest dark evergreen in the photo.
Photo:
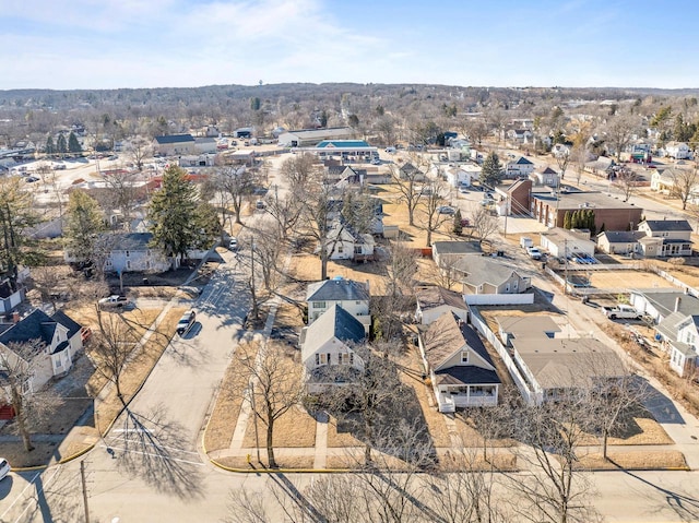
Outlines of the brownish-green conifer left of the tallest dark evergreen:
{"type": "Polygon", "coordinates": [[[66,215],[66,250],[79,262],[94,262],[99,233],[105,230],[97,200],[84,191],[73,191],[68,199],[66,215]]]}

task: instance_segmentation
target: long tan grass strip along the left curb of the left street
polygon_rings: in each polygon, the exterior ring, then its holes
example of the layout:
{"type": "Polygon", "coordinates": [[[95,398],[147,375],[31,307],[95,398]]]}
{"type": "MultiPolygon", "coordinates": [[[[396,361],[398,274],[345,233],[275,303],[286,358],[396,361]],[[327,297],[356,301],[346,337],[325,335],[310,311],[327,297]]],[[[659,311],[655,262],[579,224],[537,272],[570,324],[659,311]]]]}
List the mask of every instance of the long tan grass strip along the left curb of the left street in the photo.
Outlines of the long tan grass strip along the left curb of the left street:
{"type": "MultiPolygon", "coordinates": [[[[147,379],[153,367],[155,367],[155,364],[161,358],[161,355],[165,348],[167,348],[169,340],[175,333],[177,322],[185,310],[187,309],[182,307],[171,308],[158,325],[155,333],[141,348],[138,357],[126,368],[120,381],[125,401],[130,401],[147,379]]],[[[104,433],[121,411],[122,405],[121,401],[117,397],[116,388],[111,388],[104,401],[97,406],[96,425],[97,429],[104,433]]]]}

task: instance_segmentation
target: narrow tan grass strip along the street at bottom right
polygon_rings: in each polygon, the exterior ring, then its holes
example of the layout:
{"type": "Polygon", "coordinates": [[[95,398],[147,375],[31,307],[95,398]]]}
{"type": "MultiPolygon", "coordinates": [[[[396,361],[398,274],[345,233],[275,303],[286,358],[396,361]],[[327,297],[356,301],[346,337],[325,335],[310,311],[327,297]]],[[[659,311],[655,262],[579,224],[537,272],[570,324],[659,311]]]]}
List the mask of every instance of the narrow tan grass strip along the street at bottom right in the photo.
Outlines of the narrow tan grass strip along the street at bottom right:
{"type": "Polygon", "coordinates": [[[591,453],[582,456],[578,463],[578,468],[592,471],[647,471],[663,468],[689,469],[685,456],[679,451],[630,451],[630,452],[608,452],[609,461],[604,460],[600,453],[591,453]]]}

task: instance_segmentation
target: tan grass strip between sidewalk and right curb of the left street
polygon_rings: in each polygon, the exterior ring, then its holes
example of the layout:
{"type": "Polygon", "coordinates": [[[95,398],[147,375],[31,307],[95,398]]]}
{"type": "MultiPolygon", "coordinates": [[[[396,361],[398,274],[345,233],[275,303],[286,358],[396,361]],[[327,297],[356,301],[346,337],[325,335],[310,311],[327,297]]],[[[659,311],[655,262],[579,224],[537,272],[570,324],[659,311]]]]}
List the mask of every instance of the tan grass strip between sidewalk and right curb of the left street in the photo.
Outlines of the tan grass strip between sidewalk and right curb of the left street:
{"type": "MultiPolygon", "coordinates": [[[[258,342],[250,343],[250,354],[254,356],[259,348],[258,342]]],[[[245,380],[240,379],[240,369],[234,364],[230,364],[226,369],[218,390],[218,396],[216,397],[216,404],[209,418],[209,425],[206,425],[204,448],[208,452],[230,447],[233,432],[236,429],[242,405],[242,387],[240,383],[247,382],[247,378],[245,380]]]]}

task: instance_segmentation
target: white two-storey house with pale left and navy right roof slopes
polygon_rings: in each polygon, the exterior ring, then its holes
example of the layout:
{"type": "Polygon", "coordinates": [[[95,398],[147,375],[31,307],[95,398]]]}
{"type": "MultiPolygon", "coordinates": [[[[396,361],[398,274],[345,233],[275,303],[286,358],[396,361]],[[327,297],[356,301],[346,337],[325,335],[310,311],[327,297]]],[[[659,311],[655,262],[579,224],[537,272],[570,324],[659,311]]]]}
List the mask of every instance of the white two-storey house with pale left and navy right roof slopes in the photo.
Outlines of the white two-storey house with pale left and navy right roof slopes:
{"type": "Polygon", "coordinates": [[[365,338],[364,325],[340,305],[304,328],[299,343],[308,391],[319,393],[351,381],[363,368],[355,347],[365,338]]]}

